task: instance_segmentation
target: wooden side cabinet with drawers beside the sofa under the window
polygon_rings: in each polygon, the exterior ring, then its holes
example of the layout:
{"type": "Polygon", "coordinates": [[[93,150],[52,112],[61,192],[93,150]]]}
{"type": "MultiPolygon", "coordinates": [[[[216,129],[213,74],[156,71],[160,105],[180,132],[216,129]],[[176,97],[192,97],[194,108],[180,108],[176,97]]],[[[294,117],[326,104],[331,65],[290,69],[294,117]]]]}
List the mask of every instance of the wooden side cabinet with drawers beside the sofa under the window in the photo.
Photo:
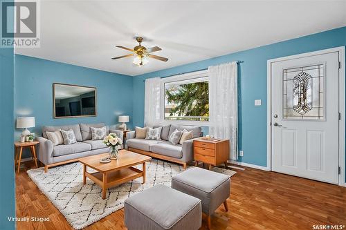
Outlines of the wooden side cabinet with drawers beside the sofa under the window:
{"type": "Polygon", "coordinates": [[[203,140],[197,138],[194,140],[194,166],[199,162],[209,164],[209,170],[212,166],[225,164],[227,169],[227,160],[230,153],[230,140],[203,140]]]}

